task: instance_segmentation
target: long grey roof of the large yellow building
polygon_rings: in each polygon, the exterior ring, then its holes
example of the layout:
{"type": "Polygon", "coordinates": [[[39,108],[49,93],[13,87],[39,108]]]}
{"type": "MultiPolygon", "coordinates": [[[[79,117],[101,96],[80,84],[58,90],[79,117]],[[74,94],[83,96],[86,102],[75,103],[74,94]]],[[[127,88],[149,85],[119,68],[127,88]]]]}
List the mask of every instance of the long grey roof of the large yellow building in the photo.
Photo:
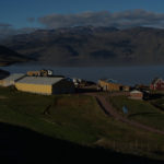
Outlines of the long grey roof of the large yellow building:
{"type": "Polygon", "coordinates": [[[28,83],[28,84],[44,84],[44,85],[51,85],[63,78],[49,78],[49,77],[25,77],[17,81],[17,83],[28,83]]]}

